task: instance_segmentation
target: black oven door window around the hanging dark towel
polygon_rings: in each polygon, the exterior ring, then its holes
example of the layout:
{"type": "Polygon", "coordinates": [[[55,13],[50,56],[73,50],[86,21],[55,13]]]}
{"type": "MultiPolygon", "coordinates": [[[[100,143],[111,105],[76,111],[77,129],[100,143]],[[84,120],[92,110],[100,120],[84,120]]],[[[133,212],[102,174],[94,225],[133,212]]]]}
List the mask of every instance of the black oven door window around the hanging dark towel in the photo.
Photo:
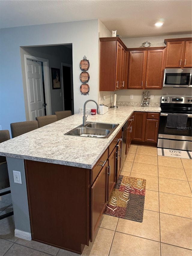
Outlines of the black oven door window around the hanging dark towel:
{"type": "Polygon", "coordinates": [[[169,134],[169,135],[180,135],[180,136],[191,136],[192,134],[192,124],[191,117],[187,119],[186,127],[178,128],[168,128],[166,127],[167,116],[160,116],[159,120],[159,134],[169,134]]]}

